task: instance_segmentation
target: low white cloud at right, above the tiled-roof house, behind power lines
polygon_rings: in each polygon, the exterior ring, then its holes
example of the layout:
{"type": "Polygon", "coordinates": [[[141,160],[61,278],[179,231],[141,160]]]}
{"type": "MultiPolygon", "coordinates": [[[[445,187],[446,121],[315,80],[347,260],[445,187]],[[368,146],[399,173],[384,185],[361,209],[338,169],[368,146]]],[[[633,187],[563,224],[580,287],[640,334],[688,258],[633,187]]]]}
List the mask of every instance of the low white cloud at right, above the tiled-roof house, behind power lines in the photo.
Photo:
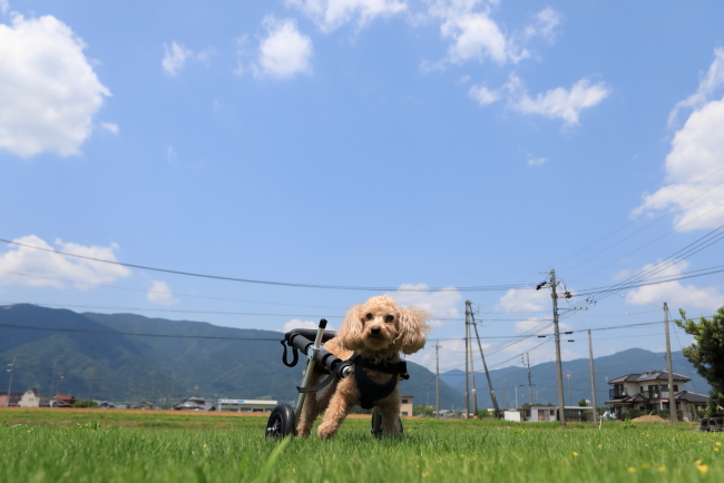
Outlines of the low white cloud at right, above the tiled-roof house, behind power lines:
{"type": "MultiPolygon", "coordinates": [[[[688,262],[679,260],[673,266],[656,273],[656,277],[676,276],[689,266],[688,262]]],[[[648,270],[653,265],[646,265],[642,270],[648,270]]],[[[668,303],[672,310],[688,307],[715,310],[724,305],[724,295],[714,287],[698,288],[695,285],[682,285],[678,282],[647,285],[638,287],[626,294],[629,305],[663,304],[668,303]]]]}

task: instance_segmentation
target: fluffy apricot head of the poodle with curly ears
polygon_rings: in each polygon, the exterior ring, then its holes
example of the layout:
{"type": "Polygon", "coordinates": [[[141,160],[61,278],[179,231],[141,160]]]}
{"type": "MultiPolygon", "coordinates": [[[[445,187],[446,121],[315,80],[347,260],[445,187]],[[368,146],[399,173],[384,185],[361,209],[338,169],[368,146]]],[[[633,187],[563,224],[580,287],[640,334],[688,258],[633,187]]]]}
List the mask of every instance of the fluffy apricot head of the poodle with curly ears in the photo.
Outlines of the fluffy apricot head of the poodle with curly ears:
{"type": "Polygon", "coordinates": [[[402,308],[394,298],[379,295],[350,308],[337,337],[349,351],[413,354],[424,347],[428,318],[424,310],[402,308]]]}

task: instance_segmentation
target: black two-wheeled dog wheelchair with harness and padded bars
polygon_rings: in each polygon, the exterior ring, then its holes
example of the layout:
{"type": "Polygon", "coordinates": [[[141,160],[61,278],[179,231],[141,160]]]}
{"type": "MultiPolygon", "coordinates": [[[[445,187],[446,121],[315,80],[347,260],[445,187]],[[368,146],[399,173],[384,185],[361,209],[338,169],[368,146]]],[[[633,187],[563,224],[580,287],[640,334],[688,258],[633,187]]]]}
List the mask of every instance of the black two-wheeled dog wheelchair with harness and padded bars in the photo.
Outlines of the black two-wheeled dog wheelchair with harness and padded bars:
{"type": "MultiPolygon", "coordinates": [[[[361,392],[363,393],[362,407],[372,407],[372,428],[370,432],[376,437],[380,437],[382,435],[382,414],[378,407],[373,405],[373,401],[370,400],[370,397],[366,397],[366,400],[364,397],[364,377],[366,376],[361,376],[361,373],[363,373],[362,368],[368,367],[388,374],[394,374],[395,377],[392,377],[390,379],[390,383],[385,384],[392,387],[389,391],[391,393],[397,386],[398,378],[410,378],[410,375],[407,372],[407,364],[404,362],[399,362],[389,366],[385,366],[383,364],[373,364],[365,361],[358,353],[354,353],[349,359],[342,361],[322,347],[322,344],[331,341],[336,336],[335,332],[325,332],[325,328],[326,319],[323,318],[320,321],[320,325],[316,331],[312,328],[296,328],[284,334],[284,338],[281,341],[282,345],[284,346],[284,354],[282,355],[282,362],[284,365],[287,367],[294,367],[299,362],[300,351],[309,358],[309,361],[306,363],[306,372],[304,373],[302,385],[296,387],[296,391],[300,393],[296,408],[293,408],[288,404],[277,404],[266,422],[266,437],[281,438],[290,435],[295,436],[296,423],[302,414],[306,394],[321,391],[331,384],[334,379],[343,379],[346,377],[358,377],[358,384],[360,381],[362,381],[362,387],[360,387],[361,392]],[[292,352],[291,362],[287,359],[287,348],[290,348],[292,352]],[[314,367],[316,364],[320,364],[322,367],[327,369],[330,374],[320,384],[310,386],[312,374],[314,373],[314,367]],[[362,377],[362,379],[359,377],[362,377]]],[[[370,383],[366,384],[369,385],[370,383]]],[[[371,384],[375,385],[374,383],[371,384]]],[[[403,428],[401,418],[399,420],[399,424],[400,433],[402,433],[403,428]]]]}

